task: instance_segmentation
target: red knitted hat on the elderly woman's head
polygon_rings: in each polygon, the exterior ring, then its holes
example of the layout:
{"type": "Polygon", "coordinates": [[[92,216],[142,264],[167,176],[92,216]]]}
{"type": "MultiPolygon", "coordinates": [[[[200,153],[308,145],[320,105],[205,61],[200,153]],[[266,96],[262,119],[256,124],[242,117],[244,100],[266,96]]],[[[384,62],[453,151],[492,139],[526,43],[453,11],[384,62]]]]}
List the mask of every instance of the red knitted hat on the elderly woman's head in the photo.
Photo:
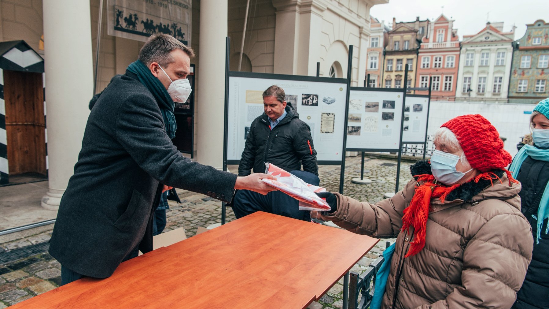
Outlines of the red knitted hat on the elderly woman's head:
{"type": "Polygon", "coordinates": [[[484,173],[504,169],[512,157],[503,149],[503,141],[496,128],[481,115],[463,115],[441,125],[456,135],[472,168],[484,173]]]}

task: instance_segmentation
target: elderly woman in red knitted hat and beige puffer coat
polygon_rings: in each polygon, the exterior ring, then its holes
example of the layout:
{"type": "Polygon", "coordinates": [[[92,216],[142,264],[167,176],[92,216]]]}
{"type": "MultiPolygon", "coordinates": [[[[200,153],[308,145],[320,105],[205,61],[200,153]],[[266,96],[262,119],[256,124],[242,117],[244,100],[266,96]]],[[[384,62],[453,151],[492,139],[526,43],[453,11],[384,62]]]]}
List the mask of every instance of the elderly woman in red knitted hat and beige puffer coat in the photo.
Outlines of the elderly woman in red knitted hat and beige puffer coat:
{"type": "MultiPolygon", "coordinates": [[[[464,115],[435,133],[436,150],[414,180],[376,204],[319,194],[318,218],[354,233],[396,238],[382,308],[510,308],[531,260],[520,184],[494,126],[464,115]]],[[[315,218],[316,214],[311,214],[315,218]]]]}

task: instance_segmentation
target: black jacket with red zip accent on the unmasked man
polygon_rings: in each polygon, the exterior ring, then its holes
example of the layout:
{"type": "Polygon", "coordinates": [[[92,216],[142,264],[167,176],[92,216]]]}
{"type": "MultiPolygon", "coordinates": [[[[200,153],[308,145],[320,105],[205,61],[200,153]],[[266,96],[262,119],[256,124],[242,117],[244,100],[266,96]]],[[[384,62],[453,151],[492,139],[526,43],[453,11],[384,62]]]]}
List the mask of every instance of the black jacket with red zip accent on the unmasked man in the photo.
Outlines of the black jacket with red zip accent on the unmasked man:
{"type": "Polygon", "coordinates": [[[269,128],[266,114],[251,123],[238,165],[239,176],[249,175],[251,168],[254,168],[254,173],[265,173],[265,162],[288,172],[301,169],[303,164],[305,172],[318,175],[311,128],[299,119],[299,114],[293,111],[290,104],[285,110],[287,114],[273,130],[269,128]]]}

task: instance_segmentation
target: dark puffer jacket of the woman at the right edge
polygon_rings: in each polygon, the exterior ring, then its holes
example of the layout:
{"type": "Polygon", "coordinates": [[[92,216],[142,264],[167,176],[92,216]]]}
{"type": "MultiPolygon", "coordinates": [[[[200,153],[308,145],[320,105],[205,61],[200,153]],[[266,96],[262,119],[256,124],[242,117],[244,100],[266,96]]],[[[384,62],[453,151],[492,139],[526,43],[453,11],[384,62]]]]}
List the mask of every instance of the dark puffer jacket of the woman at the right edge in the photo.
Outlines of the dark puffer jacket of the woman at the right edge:
{"type": "Polygon", "coordinates": [[[520,167],[517,180],[522,184],[522,190],[519,193],[522,201],[520,210],[532,226],[534,252],[513,308],[547,309],[549,308],[549,235],[545,234],[547,220],[542,226],[540,242],[536,244],[537,219],[533,215],[537,215],[541,196],[549,180],[549,162],[527,157],[520,167]]]}

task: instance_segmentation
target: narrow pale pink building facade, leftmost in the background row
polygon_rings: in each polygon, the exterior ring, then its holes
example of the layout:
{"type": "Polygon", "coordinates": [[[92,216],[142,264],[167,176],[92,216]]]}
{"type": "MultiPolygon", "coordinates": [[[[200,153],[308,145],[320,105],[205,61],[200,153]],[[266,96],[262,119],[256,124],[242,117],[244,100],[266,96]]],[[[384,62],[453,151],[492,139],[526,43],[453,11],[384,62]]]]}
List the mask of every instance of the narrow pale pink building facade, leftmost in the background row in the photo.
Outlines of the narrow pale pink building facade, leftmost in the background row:
{"type": "Polygon", "coordinates": [[[385,21],[379,22],[378,19],[370,16],[370,43],[368,46],[368,63],[366,65],[366,74],[370,75],[368,87],[382,87],[383,72],[383,50],[388,44],[389,27],[385,21]]]}

